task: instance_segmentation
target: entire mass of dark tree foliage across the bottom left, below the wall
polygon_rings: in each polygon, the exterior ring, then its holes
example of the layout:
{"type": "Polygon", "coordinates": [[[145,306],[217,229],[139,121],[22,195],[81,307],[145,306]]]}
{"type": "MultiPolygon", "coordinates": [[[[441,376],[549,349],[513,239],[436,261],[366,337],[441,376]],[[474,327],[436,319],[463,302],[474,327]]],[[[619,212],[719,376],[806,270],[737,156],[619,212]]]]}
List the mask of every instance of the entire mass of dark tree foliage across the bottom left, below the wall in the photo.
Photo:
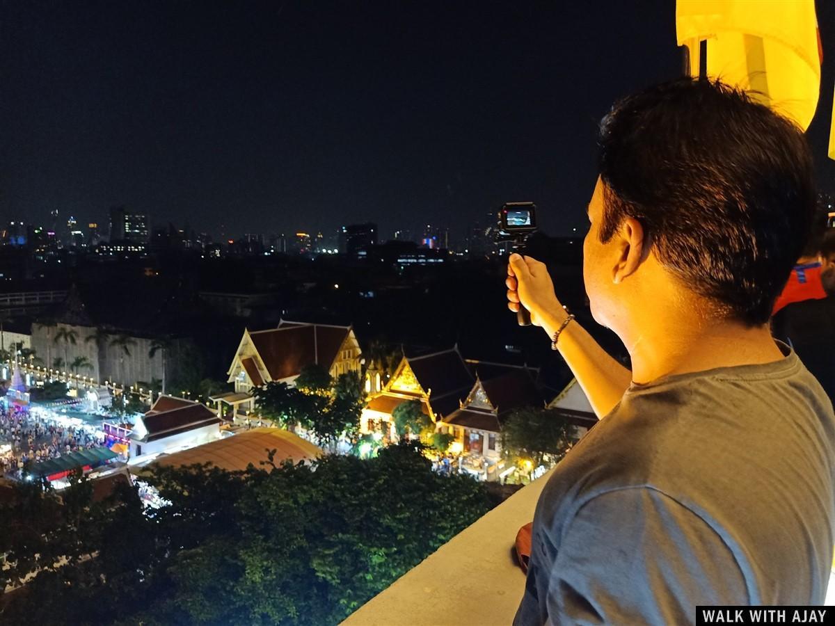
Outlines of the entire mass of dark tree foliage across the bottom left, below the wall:
{"type": "Polygon", "coordinates": [[[2,576],[42,569],[0,621],[336,624],[488,509],[482,484],[432,472],[420,444],[316,467],[154,467],[147,479],[170,502],[150,516],[129,490],[93,503],[83,479],[60,499],[17,487],[0,507],[2,576]]]}

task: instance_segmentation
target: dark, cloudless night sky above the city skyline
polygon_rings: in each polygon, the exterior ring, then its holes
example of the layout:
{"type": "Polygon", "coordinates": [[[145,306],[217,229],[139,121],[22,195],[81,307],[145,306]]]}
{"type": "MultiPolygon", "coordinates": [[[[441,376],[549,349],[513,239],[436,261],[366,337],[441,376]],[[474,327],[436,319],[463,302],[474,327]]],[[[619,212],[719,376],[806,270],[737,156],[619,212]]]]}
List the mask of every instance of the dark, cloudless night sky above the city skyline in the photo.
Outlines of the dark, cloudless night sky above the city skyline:
{"type": "MultiPolygon", "coordinates": [[[[832,190],[822,4],[811,136],[832,190]]],[[[600,117],[680,71],[672,0],[8,0],[0,218],[101,224],[124,204],[227,237],[373,220],[382,239],[422,223],[457,239],[534,200],[565,235],[585,227],[600,117]]]]}

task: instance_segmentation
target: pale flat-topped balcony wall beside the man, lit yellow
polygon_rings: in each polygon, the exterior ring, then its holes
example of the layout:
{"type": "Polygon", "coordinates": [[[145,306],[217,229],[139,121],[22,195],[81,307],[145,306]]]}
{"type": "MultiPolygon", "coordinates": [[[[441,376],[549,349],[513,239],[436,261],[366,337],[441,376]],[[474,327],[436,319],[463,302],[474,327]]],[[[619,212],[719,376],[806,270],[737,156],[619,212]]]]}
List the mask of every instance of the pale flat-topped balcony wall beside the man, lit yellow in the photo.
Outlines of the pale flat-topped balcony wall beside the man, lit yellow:
{"type": "Polygon", "coordinates": [[[516,533],[534,519],[549,474],[520,489],[357,609],[347,626],[512,623],[524,592],[516,533]]]}

